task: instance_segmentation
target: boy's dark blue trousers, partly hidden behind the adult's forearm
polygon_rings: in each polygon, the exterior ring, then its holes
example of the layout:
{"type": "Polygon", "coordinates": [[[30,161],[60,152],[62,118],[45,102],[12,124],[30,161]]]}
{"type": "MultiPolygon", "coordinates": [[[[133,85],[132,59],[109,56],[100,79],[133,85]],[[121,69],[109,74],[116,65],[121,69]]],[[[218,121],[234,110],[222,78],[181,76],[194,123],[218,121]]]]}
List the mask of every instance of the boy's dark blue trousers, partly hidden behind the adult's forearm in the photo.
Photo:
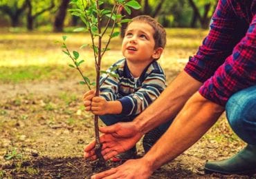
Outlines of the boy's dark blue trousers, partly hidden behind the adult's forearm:
{"type": "MultiPolygon", "coordinates": [[[[102,115],[99,117],[105,125],[113,125],[113,124],[116,124],[119,122],[130,122],[130,121],[134,120],[134,118],[136,118],[136,116],[138,116],[138,115],[125,116],[123,114],[106,114],[106,115],[102,115]]],[[[171,123],[172,123],[172,120],[168,121],[167,123],[164,123],[163,125],[159,125],[156,128],[165,132],[170,127],[171,123]]]]}

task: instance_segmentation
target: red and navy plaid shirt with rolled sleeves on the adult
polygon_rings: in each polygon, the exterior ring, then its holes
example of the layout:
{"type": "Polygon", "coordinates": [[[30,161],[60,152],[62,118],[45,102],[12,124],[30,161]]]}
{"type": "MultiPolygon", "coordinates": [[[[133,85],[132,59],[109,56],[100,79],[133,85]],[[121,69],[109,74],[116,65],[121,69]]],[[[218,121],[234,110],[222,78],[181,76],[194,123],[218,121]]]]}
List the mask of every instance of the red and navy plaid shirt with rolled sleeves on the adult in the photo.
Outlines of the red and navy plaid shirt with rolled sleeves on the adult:
{"type": "Polygon", "coordinates": [[[256,85],[256,0],[220,0],[208,36],[184,70],[203,83],[202,96],[223,106],[256,85]]]}

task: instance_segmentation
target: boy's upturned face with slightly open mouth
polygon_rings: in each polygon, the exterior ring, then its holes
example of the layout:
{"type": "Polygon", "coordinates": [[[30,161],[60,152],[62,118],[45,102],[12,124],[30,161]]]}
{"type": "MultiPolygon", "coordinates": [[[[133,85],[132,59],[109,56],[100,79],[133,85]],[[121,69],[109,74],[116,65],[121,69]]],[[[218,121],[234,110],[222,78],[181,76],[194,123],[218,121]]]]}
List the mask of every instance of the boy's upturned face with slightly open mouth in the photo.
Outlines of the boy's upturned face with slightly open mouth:
{"type": "Polygon", "coordinates": [[[127,61],[134,63],[149,62],[158,59],[154,49],[154,29],[151,25],[141,21],[131,22],[122,41],[122,54],[127,61]]]}

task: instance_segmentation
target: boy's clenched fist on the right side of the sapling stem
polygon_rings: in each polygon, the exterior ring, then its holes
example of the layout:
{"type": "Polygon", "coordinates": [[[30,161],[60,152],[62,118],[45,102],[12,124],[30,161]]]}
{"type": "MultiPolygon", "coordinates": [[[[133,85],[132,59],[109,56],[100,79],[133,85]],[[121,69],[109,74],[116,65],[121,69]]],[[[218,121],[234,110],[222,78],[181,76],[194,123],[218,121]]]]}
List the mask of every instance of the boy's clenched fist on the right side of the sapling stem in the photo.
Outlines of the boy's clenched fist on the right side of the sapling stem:
{"type": "Polygon", "coordinates": [[[109,113],[108,101],[100,96],[93,97],[91,102],[91,111],[93,114],[104,115],[109,113]]]}

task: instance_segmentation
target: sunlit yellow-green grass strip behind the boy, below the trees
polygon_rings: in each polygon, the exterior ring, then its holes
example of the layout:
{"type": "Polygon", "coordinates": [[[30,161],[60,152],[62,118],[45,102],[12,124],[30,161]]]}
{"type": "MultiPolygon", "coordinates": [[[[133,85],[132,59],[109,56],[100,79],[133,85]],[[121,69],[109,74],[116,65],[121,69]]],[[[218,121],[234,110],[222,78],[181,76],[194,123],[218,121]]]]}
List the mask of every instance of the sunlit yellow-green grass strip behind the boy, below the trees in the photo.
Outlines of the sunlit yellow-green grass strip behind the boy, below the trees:
{"type": "MultiPolygon", "coordinates": [[[[1,30],[0,30],[1,31],[1,30]]],[[[167,29],[167,47],[159,61],[165,69],[184,65],[188,56],[194,54],[201,44],[207,30],[167,29]]],[[[80,52],[87,76],[94,74],[93,52],[80,46],[90,43],[89,34],[52,33],[52,32],[21,32],[3,31],[0,34],[0,81],[3,83],[21,83],[24,81],[43,81],[48,79],[62,80],[79,76],[69,69],[70,59],[62,53],[62,35],[68,36],[68,48],[80,52]]],[[[103,69],[114,61],[121,59],[119,38],[111,42],[111,51],[107,52],[102,61],[103,69]],[[114,56],[114,57],[113,57],[114,56]]]]}

